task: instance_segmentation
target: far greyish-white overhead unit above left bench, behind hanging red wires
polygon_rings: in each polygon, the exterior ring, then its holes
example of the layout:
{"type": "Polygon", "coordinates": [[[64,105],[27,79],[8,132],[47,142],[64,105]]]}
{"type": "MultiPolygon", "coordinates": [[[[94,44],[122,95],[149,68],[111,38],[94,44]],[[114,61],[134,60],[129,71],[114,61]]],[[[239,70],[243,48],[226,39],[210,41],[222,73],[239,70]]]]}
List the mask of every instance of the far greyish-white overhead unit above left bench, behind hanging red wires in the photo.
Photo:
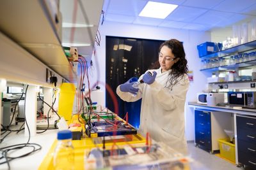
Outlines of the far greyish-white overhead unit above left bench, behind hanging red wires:
{"type": "Polygon", "coordinates": [[[62,29],[63,43],[80,44],[80,46],[76,46],[77,52],[86,57],[88,62],[90,62],[92,57],[96,35],[100,39],[98,27],[101,23],[100,17],[103,3],[104,0],[60,1],[60,11],[62,13],[64,24],[62,29]],[[70,9],[74,9],[74,4],[76,3],[78,5],[76,8],[76,24],[79,24],[80,26],[76,27],[76,31],[72,34],[73,37],[71,38],[73,28],[72,23],[74,23],[74,18],[72,16],[74,11],[70,9]],[[71,42],[70,39],[73,39],[73,41],[71,42]]]}

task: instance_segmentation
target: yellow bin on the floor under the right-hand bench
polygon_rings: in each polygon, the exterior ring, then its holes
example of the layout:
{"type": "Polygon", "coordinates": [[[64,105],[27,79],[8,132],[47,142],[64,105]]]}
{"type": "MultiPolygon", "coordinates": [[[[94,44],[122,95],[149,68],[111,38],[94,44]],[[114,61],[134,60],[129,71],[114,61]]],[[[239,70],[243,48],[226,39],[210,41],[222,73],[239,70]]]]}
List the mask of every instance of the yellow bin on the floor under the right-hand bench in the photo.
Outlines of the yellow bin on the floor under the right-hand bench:
{"type": "Polygon", "coordinates": [[[232,162],[236,162],[236,148],[233,143],[229,142],[229,139],[219,139],[220,155],[221,157],[228,159],[232,162]]]}

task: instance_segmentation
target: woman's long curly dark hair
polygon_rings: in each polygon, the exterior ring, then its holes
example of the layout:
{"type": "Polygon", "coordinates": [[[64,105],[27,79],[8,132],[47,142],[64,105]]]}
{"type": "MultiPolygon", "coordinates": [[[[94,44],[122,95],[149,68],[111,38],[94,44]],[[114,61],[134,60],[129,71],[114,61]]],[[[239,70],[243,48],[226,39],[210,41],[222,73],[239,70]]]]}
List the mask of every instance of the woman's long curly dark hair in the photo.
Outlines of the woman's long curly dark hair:
{"type": "MultiPolygon", "coordinates": [[[[172,71],[170,71],[168,75],[168,81],[166,81],[166,88],[171,89],[174,85],[176,85],[179,80],[184,78],[184,74],[188,73],[188,61],[186,60],[186,53],[184,51],[183,44],[177,39],[170,39],[168,41],[164,41],[159,47],[159,51],[163,46],[168,46],[172,50],[172,53],[175,58],[179,58],[179,60],[173,64],[172,71]]],[[[159,61],[154,64],[152,69],[157,69],[160,67],[159,61]]]]}

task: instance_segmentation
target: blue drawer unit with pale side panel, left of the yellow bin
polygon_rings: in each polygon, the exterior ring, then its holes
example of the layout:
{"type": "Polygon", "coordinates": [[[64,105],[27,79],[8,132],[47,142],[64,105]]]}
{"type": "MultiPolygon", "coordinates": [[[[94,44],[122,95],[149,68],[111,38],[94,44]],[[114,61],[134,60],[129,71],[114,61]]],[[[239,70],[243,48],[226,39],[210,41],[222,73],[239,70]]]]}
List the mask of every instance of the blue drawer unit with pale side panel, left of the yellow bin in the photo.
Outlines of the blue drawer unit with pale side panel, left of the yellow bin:
{"type": "Polygon", "coordinates": [[[228,138],[224,129],[232,129],[230,113],[195,110],[195,143],[206,150],[220,150],[218,139],[228,138]]]}

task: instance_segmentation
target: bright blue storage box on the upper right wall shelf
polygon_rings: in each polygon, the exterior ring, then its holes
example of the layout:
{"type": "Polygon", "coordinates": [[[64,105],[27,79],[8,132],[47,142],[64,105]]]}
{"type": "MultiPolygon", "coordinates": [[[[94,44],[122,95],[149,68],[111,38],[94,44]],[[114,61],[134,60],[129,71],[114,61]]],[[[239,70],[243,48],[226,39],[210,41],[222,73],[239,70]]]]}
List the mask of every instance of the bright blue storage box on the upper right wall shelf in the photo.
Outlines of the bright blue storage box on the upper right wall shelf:
{"type": "Polygon", "coordinates": [[[214,52],[219,51],[217,43],[205,42],[197,46],[199,57],[204,57],[214,52]]]}

